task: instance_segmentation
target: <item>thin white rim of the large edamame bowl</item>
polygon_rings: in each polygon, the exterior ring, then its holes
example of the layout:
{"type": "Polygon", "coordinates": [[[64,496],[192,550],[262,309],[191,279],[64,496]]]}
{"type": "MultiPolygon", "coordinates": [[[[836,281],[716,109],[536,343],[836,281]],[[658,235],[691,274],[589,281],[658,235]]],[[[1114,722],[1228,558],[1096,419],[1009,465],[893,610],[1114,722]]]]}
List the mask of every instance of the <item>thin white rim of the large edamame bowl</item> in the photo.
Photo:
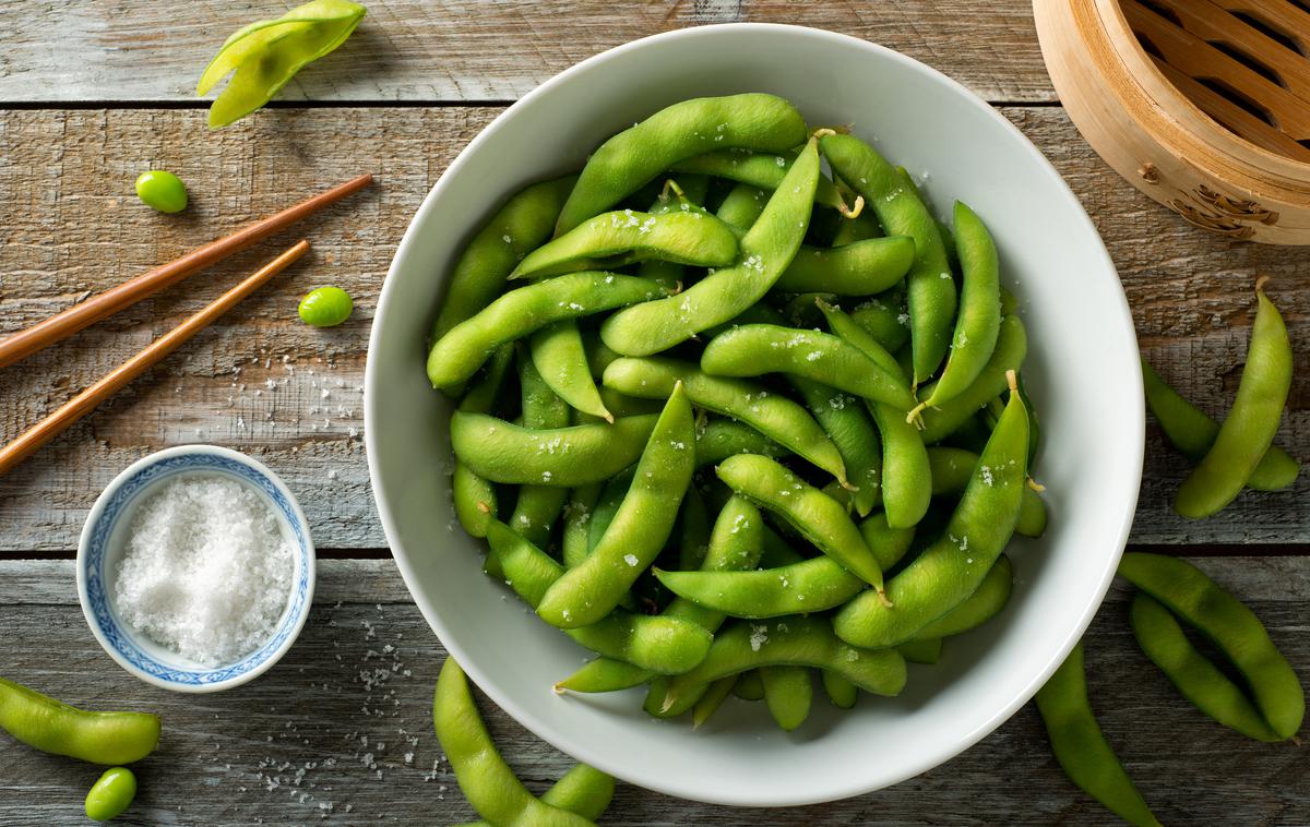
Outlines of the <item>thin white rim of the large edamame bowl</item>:
{"type": "MultiPolygon", "coordinates": [[[[1131,425],[1128,442],[1131,442],[1132,453],[1128,459],[1127,470],[1131,471],[1128,476],[1131,476],[1132,492],[1131,495],[1128,495],[1128,500],[1124,504],[1125,508],[1123,516],[1119,519],[1119,525],[1115,526],[1115,530],[1112,533],[1112,535],[1115,537],[1114,542],[1115,552],[1107,555],[1104,568],[1100,572],[1099,578],[1096,580],[1095,590],[1093,593],[1094,599],[1089,602],[1086,608],[1083,608],[1082,616],[1079,618],[1078,623],[1064,637],[1060,646],[1057,648],[1056,654],[1052,658],[1049,658],[1049,661],[1044,663],[1040,670],[1035,673],[1032,679],[1028,680],[1009,703],[996,709],[988,717],[984,725],[977,726],[965,735],[943,746],[942,750],[938,750],[935,752],[934,758],[907,763],[903,767],[900,767],[896,772],[888,773],[886,779],[875,781],[872,784],[867,781],[859,781],[854,784],[846,784],[841,789],[828,788],[817,794],[808,792],[800,792],[798,794],[795,792],[789,792],[789,790],[781,790],[781,792],[774,790],[772,798],[764,796],[745,797],[741,794],[734,794],[731,790],[723,792],[720,794],[690,794],[688,790],[679,789],[673,785],[651,783],[650,779],[645,777],[641,779],[634,777],[634,775],[629,771],[627,765],[616,764],[608,760],[604,755],[592,750],[590,745],[587,745],[580,738],[572,739],[562,734],[559,737],[555,737],[554,733],[549,735],[538,733],[529,724],[528,721],[529,716],[523,709],[520,709],[517,704],[508,695],[506,695],[506,692],[503,692],[498,684],[495,684],[491,680],[487,680],[487,675],[478,666],[478,661],[476,658],[466,657],[466,654],[469,653],[465,652],[465,648],[458,641],[448,640],[448,636],[444,635],[444,632],[447,632],[447,627],[441,622],[439,612],[432,606],[432,602],[428,598],[421,598],[419,594],[415,591],[413,584],[418,582],[419,574],[417,572],[414,563],[410,560],[409,555],[402,550],[400,550],[400,543],[396,539],[400,537],[400,531],[396,525],[392,510],[388,506],[386,497],[384,497],[384,491],[386,491],[388,487],[383,480],[381,470],[376,465],[377,463],[376,457],[380,453],[379,446],[376,444],[377,436],[375,434],[375,428],[369,427],[369,421],[377,421],[377,417],[380,416],[377,406],[380,406],[381,389],[379,387],[380,379],[376,368],[377,360],[373,357],[373,353],[375,348],[379,347],[379,343],[381,340],[380,331],[383,330],[388,317],[388,306],[389,306],[388,298],[396,289],[396,280],[393,277],[400,271],[401,262],[409,255],[410,247],[418,243],[415,241],[418,236],[418,230],[415,228],[424,224],[428,213],[436,209],[436,203],[439,202],[441,194],[448,186],[447,183],[448,175],[451,175],[452,173],[457,173],[465,164],[468,164],[468,158],[476,154],[478,149],[481,149],[482,144],[489,140],[489,135],[496,131],[496,128],[500,127],[502,122],[510,118],[517,107],[524,106],[534,101],[536,98],[548,94],[554,88],[565,82],[569,82],[575,75],[579,75],[593,65],[612,60],[617,55],[622,55],[634,48],[647,47],[651,43],[659,43],[663,41],[677,39],[677,38],[693,38],[693,39],[705,37],[714,38],[714,37],[723,37],[724,34],[734,34],[738,31],[743,33],[773,31],[773,33],[783,33],[800,37],[815,37],[833,42],[841,42],[845,44],[855,46],[858,48],[872,51],[886,60],[909,64],[910,68],[913,68],[914,71],[925,72],[930,77],[933,77],[937,82],[945,84],[947,88],[952,89],[960,96],[962,105],[973,106],[975,109],[985,111],[988,118],[997,122],[1014,139],[1017,139],[1018,145],[1022,147],[1022,150],[1028,154],[1034,166],[1040,169],[1043,174],[1051,179],[1052,186],[1057,191],[1062,192],[1062,195],[1068,198],[1069,203],[1073,207],[1076,207],[1073,220],[1081,222],[1082,228],[1087,233],[1090,233],[1091,238],[1095,238],[1099,242],[1095,250],[1098,253],[1099,264],[1106,270],[1108,270],[1108,272],[1117,273],[1114,260],[1111,259],[1110,253],[1106,249],[1104,241],[1100,238],[1100,234],[1096,230],[1095,224],[1087,215],[1086,209],[1082,207],[1082,203],[1078,199],[1078,196],[1073,192],[1068,182],[1060,175],[1060,173],[1051,164],[1051,161],[1041,153],[1041,150],[1039,150],[1032,144],[1032,141],[1027,139],[1026,135],[1023,135],[1023,132],[1015,124],[1013,124],[1001,113],[998,113],[996,107],[993,107],[990,103],[988,103],[981,97],[975,94],[967,86],[964,86],[959,81],[955,81],[943,72],[920,60],[916,60],[908,55],[897,52],[887,46],[872,43],[862,38],[836,31],[828,31],[825,29],[816,29],[811,26],[799,26],[789,24],[734,22],[734,24],[714,24],[706,26],[694,26],[688,29],[675,29],[671,31],[664,31],[645,38],[639,38],[635,41],[630,41],[627,43],[622,43],[600,54],[592,55],[591,58],[587,58],[586,60],[582,60],[563,69],[562,72],[552,76],[550,79],[542,81],[534,89],[532,89],[531,92],[520,97],[517,101],[511,103],[504,111],[502,111],[486,127],[483,127],[482,131],[479,131],[478,135],[474,136],[473,140],[470,140],[469,144],[462,150],[460,150],[460,153],[455,157],[455,160],[452,160],[451,164],[447,166],[447,169],[441,173],[441,177],[432,185],[428,194],[423,198],[423,202],[421,203],[419,208],[415,211],[414,217],[410,220],[410,224],[405,230],[405,236],[401,238],[401,242],[396,249],[392,264],[386,271],[386,279],[384,280],[381,290],[379,292],[377,305],[373,315],[373,326],[369,332],[369,343],[368,343],[369,359],[365,362],[365,374],[364,374],[364,421],[365,421],[364,442],[365,442],[365,454],[368,458],[369,483],[372,485],[373,500],[377,506],[379,521],[381,522],[383,531],[388,539],[392,551],[392,557],[396,560],[396,565],[401,572],[401,577],[405,580],[406,588],[410,590],[410,595],[414,598],[414,602],[418,606],[419,612],[423,615],[423,619],[427,620],[428,625],[436,633],[443,648],[447,649],[447,653],[458,660],[460,665],[465,669],[465,671],[469,673],[470,679],[483,691],[483,694],[487,695],[487,697],[491,699],[491,701],[494,701],[498,707],[500,707],[502,711],[510,714],[515,721],[521,724],[525,729],[532,731],[533,735],[541,738],[546,743],[550,743],[559,751],[572,756],[576,760],[592,764],[593,767],[597,767],[604,772],[614,775],[616,777],[620,777],[630,784],[643,786],[646,789],[652,789],[664,794],[676,796],[681,798],[690,798],[696,801],[703,801],[707,803],[727,805],[727,806],[756,806],[756,807],[803,806],[812,803],[824,803],[829,801],[837,801],[842,798],[871,793],[879,789],[884,789],[887,786],[892,786],[895,784],[900,784],[901,781],[905,781],[922,772],[942,765],[943,763],[948,762],[950,759],[955,758],[956,755],[972,747],[975,743],[977,743],[990,733],[996,731],[997,728],[1000,728],[1010,717],[1013,717],[1014,713],[1023,704],[1031,700],[1031,697],[1036,694],[1036,691],[1064,662],[1069,652],[1082,637],[1087,625],[1090,625],[1091,619],[1095,616],[1098,608],[1104,601],[1104,595],[1108,591],[1110,584],[1115,576],[1119,559],[1121,557],[1124,548],[1127,547],[1128,543],[1129,530],[1132,529],[1133,517],[1136,514],[1136,505],[1141,483],[1141,470],[1145,453],[1145,411],[1141,410],[1140,404],[1133,403],[1125,406],[1125,410],[1129,412],[1128,424],[1131,425]]],[[[1117,298],[1119,313],[1116,318],[1107,318],[1107,326],[1110,328],[1117,327],[1120,335],[1125,339],[1125,342],[1129,343],[1132,351],[1137,352],[1137,336],[1132,319],[1132,311],[1128,306],[1128,297],[1127,294],[1124,294],[1121,287],[1117,292],[1116,298],[1117,298]]],[[[1140,402],[1142,399],[1142,379],[1140,373],[1136,376],[1127,377],[1127,381],[1129,382],[1131,385],[1129,390],[1132,391],[1131,394],[1128,394],[1128,398],[1140,402]]]]}

